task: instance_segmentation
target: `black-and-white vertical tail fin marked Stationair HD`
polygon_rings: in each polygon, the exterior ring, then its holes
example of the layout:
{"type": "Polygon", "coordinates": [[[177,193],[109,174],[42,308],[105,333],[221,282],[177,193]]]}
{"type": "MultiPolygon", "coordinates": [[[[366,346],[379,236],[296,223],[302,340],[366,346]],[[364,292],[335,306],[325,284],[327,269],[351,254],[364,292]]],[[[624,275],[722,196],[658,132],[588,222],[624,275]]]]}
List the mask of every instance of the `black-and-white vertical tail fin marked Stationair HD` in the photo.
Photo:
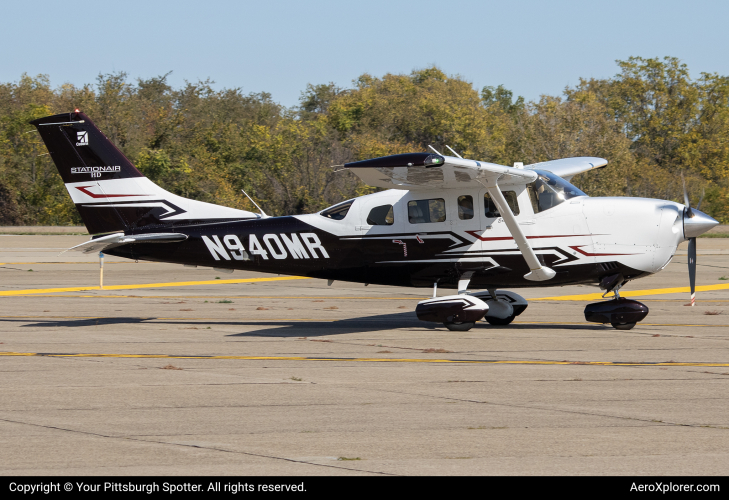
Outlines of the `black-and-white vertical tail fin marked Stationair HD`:
{"type": "Polygon", "coordinates": [[[91,234],[161,226],[255,219],[244,210],[182,198],[137,170],[88,116],[73,113],[30,122],[38,129],[91,234]]]}

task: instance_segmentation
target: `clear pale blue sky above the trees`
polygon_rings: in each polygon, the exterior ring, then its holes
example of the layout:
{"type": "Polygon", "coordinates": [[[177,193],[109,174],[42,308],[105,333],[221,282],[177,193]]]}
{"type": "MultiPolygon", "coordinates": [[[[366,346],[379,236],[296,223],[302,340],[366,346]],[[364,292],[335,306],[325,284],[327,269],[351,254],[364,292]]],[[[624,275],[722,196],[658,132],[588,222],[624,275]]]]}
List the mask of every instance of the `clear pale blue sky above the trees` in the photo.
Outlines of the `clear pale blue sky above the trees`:
{"type": "Polygon", "coordinates": [[[348,87],[362,73],[434,64],[527,100],[611,77],[630,56],[678,57],[694,77],[729,74],[729,2],[719,0],[35,0],[2,12],[0,82],[172,71],[175,87],[210,78],[293,106],[307,83],[348,87]]]}

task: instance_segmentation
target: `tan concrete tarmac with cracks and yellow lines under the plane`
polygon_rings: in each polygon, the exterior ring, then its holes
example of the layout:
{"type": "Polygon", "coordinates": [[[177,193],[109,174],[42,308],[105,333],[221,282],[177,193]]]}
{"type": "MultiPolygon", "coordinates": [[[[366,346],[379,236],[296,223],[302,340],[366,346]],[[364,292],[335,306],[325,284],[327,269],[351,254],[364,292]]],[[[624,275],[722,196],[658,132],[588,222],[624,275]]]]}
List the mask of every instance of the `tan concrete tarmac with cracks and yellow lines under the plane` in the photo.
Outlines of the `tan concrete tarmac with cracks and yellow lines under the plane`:
{"type": "MultiPolygon", "coordinates": [[[[415,317],[431,290],[111,256],[107,287],[188,284],[52,291],[98,286],[58,255],[87,239],[0,235],[4,475],[729,470],[729,287],[634,297],[629,331],[531,300],[596,288],[516,290],[512,325],[450,332],[415,317]]],[[[698,248],[697,284],[729,284],[729,239],[698,248]]],[[[688,286],[685,253],[625,290],[688,286]]]]}

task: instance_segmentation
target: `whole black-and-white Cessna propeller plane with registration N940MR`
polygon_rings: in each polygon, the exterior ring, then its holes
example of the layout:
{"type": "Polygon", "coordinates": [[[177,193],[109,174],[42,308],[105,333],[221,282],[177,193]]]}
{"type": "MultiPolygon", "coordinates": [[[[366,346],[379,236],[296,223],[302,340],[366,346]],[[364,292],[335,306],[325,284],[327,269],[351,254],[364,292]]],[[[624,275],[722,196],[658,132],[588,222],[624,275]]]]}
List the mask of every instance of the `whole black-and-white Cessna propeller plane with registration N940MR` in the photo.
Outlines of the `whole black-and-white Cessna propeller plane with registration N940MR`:
{"type": "Polygon", "coordinates": [[[508,167],[455,152],[347,163],[343,169],[387,190],[316,214],[268,217],[165,191],[78,110],[31,124],[93,235],[74,250],[330,284],[433,287],[417,316],[450,330],[481,319],[511,323],[527,301],[505,288],[576,283],[613,293],[588,305],[586,320],[632,328],[648,308],[621,298],[620,288],[666,267],[688,239],[693,301],[696,237],[718,224],[688,196],[685,205],[591,198],[569,183],[607,165],[601,158],[508,167]],[[457,294],[438,297],[437,287],[457,294]]]}

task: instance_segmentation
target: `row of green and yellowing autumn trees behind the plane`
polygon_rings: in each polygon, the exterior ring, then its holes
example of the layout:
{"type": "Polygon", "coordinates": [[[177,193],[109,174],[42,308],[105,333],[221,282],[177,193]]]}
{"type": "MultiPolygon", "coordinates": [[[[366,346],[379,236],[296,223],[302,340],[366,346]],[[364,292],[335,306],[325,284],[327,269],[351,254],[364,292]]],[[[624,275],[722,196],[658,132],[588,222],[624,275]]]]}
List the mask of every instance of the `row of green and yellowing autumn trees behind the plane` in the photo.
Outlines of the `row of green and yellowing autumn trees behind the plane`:
{"type": "Polygon", "coordinates": [[[45,75],[0,84],[0,225],[78,224],[80,218],[29,121],[83,110],[154,182],[181,196],[269,214],[321,210],[375,188],[333,165],[449,145],[503,165],[571,156],[608,159],[573,179],[591,196],[683,202],[729,223],[729,77],[692,79],[676,58],[618,61],[608,79],[526,102],[499,86],[475,89],[437,67],[363,74],[350,88],[308,85],[287,108],[265,92],[211,81],[53,88],[45,75]]]}

